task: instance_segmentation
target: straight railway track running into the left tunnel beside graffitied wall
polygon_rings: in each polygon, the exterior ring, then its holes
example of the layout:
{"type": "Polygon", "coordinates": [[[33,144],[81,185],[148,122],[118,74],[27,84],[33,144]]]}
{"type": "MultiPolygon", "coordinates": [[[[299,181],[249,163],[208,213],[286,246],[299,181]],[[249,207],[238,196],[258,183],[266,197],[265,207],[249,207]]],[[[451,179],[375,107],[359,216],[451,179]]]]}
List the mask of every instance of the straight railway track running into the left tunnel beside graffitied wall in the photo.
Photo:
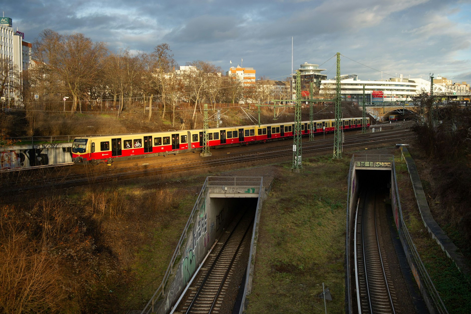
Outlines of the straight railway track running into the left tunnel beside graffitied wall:
{"type": "Polygon", "coordinates": [[[241,256],[250,248],[254,217],[254,210],[246,210],[227,228],[171,313],[232,313],[236,294],[227,292],[240,285],[234,274],[239,263],[247,264],[241,256]]]}

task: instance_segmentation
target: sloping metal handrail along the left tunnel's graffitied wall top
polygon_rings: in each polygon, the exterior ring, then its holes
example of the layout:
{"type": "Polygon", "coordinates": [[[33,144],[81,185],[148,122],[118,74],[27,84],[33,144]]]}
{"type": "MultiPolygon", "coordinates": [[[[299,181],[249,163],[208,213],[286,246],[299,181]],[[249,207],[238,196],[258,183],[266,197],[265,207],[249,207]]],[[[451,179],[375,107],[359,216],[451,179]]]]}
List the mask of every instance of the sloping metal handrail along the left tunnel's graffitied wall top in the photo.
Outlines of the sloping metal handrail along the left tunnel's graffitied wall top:
{"type": "Polygon", "coordinates": [[[175,251],[173,252],[173,255],[170,259],[170,263],[169,263],[169,266],[167,267],[167,270],[165,271],[165,274],[163,275],[163,279],[162,279],[162,283],[160,284],[159,288],[157,288],[157,290],[155,290],[154,292],[154,295],[151,297],[151,299],[149,300],[149,302],[147,302],[147,305],[146,307],[144,307],[144,309],[142,310],[141,314],[144,314],[144,313],[150,313],[151,311],[154,312],[154,304],[155,304],[155,301],[158,300],[158,298],[160,296],[163,295],[163,288],[165,287],[165,285],[167,284],[167,281],[170,277],[170,274],[172,273],[172,268],[173,268],[173,265],[175,264],[175,260],[177,259],[177,256],[178,256],[178,252],[180,250],[180,247],[181,245],[183,244],[183,240],[186,239],[187,237],[187,231],[188,231],[188,228],[189,226],[191,225],[191,222],[193,220],[193,215],[195,214],[195,212],[197,210],[199,210],[198,208],[198,205],[200,203],[200,200],[203,198],[204,196],[204,190],[206,189],[207,187],[207,184],[208,184],[208,177],[206,177],[206,180],[204,181],[203,183],[203,188],[201,189],[200,191],[200,194],[198,195],[198,198],[196,198],[196,202],[195,202],[195,206],[193,207],[189,217],[188,217],[188,221],[187,221],[187,224],[185,225],[185,228],[183,229],[183,232],[180,236],[180,240],[177,244],[177,247],[175,248],[175,251]],[[152,306],[150,306],[152,303],[152,306]],[[147,312],[146,312],[147,310],[147,312]]]}

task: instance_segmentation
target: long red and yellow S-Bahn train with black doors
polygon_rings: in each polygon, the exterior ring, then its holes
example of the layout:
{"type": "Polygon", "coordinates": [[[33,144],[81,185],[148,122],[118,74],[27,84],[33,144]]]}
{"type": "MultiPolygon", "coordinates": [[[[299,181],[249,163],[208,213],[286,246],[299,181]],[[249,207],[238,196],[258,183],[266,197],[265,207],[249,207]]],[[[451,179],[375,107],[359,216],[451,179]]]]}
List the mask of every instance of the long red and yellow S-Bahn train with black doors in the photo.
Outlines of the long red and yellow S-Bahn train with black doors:
{"type": "MultiPolygon", "coordinates": [[[[345,131],[362,127],[362,118],[343,118],[341,128],[345,131]]],[[[366,118],[366,126],[370,119],[366,118]]],[[[334,119],[314,121],[315,134],[333,132],[334,119]]],[[[208,145],[245,145],[270,140],[292,138],[294,123],[275,123],[233,126],[208,129],[208,145]]],[[[301,134],[309,134],[309,121],[301,123],[301,134]]],[[[168,132],[134,133],[103,136],[84,136],[73,140],[72,160],[75,164],[92,164],[114,160],[130,160],[155,156],[167,156],[185,152],[201,151],[203,129],[168,132]]]]}

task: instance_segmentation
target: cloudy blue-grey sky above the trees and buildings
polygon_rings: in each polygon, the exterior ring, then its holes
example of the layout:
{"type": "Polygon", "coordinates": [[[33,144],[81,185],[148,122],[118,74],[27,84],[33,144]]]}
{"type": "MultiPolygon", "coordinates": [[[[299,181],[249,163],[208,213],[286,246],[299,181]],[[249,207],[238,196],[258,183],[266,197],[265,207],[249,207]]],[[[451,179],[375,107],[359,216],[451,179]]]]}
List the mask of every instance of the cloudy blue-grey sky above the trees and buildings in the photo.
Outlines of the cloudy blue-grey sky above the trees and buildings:
{"type": "Polygon", "coordinates": [[[34,41],[50,28],[83,33],[111,50],[170,45],[179,65],[241,64],[283,79],[304,62],[335,76],[380,80],[430,73],[471,83],[471,0],[0,0],[13,28],[34,41]],[[348,58],[347,58],[348,57],[348,58]],[[349,59],[355,60],[351,61],[349,59]],[[324,63],[324,64],[323,64],[324,63]],[[321,66],[321,64],[323,64],[321,66]],[[363,64],[363,65],[362,65],[363,64]],[[373,68],[373,69],[372,69],[373,68]],[[381,74],[381,72],[384,72],[381,74]]]}

